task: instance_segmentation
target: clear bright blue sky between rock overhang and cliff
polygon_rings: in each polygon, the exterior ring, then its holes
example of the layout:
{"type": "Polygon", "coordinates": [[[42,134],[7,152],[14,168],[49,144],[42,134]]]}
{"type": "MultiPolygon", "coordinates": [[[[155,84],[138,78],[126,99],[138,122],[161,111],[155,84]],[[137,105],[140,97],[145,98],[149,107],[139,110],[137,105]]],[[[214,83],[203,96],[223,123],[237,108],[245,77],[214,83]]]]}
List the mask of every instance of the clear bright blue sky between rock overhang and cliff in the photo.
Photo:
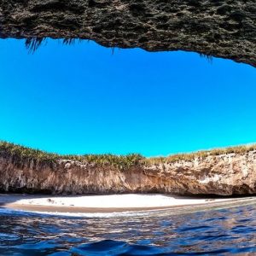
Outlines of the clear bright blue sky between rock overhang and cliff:
{"type": "Polygon", "coordinates": [[[0,41],[0,139],[61,154],[256,142],[256,69],[195,53],[0,41]]]}

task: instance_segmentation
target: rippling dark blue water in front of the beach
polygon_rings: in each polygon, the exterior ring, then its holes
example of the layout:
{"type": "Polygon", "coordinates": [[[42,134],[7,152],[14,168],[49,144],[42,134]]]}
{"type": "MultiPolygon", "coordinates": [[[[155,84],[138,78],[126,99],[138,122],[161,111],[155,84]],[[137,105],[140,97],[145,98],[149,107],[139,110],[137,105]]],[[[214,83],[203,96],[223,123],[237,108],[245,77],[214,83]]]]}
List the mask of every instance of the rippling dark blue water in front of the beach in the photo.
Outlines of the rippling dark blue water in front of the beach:
{"type": "Polygon", "coordinates": [[[256,204],[61,218],[0,212],[0,255],[256,255],[256,204]]]}

